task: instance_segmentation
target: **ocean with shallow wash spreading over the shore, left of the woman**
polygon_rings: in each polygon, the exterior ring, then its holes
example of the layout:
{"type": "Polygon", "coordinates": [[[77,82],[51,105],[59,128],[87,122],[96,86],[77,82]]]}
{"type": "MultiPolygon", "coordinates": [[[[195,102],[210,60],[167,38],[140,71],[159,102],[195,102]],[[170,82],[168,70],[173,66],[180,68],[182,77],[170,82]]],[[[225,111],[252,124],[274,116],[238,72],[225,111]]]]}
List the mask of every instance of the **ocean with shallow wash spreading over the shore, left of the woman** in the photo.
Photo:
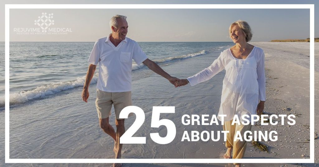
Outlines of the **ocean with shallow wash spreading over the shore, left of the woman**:
{"type": "MultiPolygon", "coordinates": [[[[233,45],[138,43],[149,59],[180,79],[208,67],[221,51],[233,45]]],[[[1,45],[4,48],[4,43],[1,45]]],[[[10,158],[114,158],[114,141],[101,130],[95,108],[98,69],[89,87],[88,102],[81,98],[93,45],[94,42],[10,42],[10,158]]],[[[0,65],[4,67],[4,56],[0,65]]],[[[181,118],[183,114],[218,113],[225,71],[198,86],[175,88],[144,65],[133,63],[132,69],[132,102],[145,113],[145,122],[134,136],[145,136],[146,144],[125,144],[123,158],[211,158],[205,152],[217,145],[224,149],[222,142],[208,141],[204,148],[200,143],[181,142],[186,130],[222,130],[222,126],[185,126],[181,118]],[[150,138],[150,133],[167,133],[165,126],[151,128],[153,106],[175,106],[175,113],[160,115],[160,119],[172,120],[176,126],[176,137],[169,144],[157,144],[150,138]],[[198,152],[195,157],[192,150],[198,152]]],[[[4,68],[0,70],[0,82],[4,83],[4,68]]],[[[0,116],[4,117],[4,84],[0,86],[0,116]]],[[[111,112],[110,125],[115,127],[113,108],[111,112]]],[[[126,129],[134,121],[135,116],[125,120],[126,129]]],[[[4,122],[0,126],[4,127],[4,122]]],[[[0,131],[4,134],[4,128],[0,131]]],[[[4,145],[4,137],[0,144],[4,145]]],[[[0,152],[0,157],[4,153],[0,152]]]]}

